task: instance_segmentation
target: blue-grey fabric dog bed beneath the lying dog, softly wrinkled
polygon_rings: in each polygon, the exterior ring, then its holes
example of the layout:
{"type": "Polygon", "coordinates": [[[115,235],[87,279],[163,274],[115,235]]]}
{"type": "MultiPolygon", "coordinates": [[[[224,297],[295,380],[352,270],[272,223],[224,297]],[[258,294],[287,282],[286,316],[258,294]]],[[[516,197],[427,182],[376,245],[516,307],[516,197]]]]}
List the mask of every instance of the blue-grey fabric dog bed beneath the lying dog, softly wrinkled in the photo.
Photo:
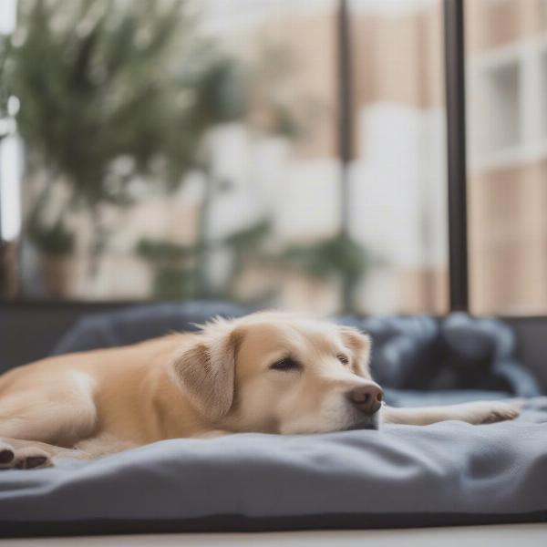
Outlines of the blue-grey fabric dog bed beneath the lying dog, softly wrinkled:
{"type": "Polygon", "coordinates": [[[0,472],[0,534],[547,521],[547,397],[521,418],[162,441],[0,472]]]}

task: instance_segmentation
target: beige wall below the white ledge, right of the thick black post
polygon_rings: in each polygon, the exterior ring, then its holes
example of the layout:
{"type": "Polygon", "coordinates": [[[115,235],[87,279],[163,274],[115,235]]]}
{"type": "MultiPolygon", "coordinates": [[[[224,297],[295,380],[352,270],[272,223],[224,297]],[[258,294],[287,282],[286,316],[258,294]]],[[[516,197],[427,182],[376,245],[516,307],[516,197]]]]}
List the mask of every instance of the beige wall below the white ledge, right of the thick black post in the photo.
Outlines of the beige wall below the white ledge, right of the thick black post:
{"type": "Polygon", "coordinates": [[[469,179],[471,306],[477,314],[547,308],[547,160],[469,179]]]}

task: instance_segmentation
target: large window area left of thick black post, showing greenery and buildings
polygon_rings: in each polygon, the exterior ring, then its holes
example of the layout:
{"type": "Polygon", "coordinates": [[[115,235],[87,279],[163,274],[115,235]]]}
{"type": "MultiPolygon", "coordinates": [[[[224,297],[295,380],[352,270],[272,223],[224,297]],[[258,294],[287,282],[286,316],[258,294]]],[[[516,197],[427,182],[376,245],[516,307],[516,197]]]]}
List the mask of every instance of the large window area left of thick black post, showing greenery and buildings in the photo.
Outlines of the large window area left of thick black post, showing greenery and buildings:
{"type": "Polygon", "coordinates": [[[4,294],[446,311],[441,8],[3,0],[4,294]]]}

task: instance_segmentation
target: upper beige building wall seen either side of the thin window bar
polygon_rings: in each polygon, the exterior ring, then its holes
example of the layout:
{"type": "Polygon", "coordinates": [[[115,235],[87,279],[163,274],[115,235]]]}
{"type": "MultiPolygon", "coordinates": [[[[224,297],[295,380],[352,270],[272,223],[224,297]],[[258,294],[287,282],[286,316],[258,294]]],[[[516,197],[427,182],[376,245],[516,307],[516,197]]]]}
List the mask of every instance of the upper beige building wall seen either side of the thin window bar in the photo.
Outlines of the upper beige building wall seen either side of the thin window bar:
{"type": "MultiPolygon", "coordinates": [[[[304,120],[311,121],[310,130],[292,147],[295,159],[337,156],[336,32],[334,10],[298,17],[284,15],[261,27],[259,43],[277,43],[294,59],[294,74],[289,76],[294,98],[309,98],[316,107],[315,119],[304,120]]],[[[350,33],[354,119],[363,108],[377,102],[415,108],[442,106],[440,2],[401,15],[387,15],[375,9],[355,10],[351,13],[350,33]]],[[[362,150],[361,138],[356,127],[355,150],[362,150]]]]}

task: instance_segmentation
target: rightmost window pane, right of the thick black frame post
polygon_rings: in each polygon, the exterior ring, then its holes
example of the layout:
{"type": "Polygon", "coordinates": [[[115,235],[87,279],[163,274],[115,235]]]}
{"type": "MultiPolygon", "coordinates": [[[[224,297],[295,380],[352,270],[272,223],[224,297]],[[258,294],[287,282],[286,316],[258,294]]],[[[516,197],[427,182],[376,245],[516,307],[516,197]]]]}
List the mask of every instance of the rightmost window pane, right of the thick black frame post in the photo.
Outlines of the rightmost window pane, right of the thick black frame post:
{"type": "Polygon", "coordinates": [[[470,304],[547,311],[547,3],[466,2],[470,304]]]}

